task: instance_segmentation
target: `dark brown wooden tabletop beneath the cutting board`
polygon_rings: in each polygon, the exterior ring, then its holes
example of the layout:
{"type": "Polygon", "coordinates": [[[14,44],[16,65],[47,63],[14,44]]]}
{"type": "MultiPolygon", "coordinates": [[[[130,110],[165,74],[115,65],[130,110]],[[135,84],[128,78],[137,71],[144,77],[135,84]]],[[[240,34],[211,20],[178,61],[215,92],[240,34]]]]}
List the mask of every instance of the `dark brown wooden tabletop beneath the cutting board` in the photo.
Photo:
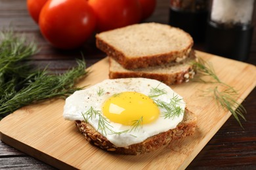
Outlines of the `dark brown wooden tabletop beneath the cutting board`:
{"type": "MultiPolygon", "coordinates": [[[[255,5],[254,5],[255,6],[255,5]]],[[[256,12],[255,12],[256,13],[256,12]]],[[[253,22],[256,22],[254,14],[253,22]]],[[[146,22],[167,24],[169,19],[169,1],[158,0],[154,14],[146,22]]],[[[0,0],[0,30],[12,28],[15,33],[23,33],[41,48],[32,56],[38,67],[49,65],[54,73],[63,73],[76,65],[75,58],[81,58],[83,52],[87,66],[104,58],[96,49],[93,37],[77,50],[56,50],[46,42],[39,27],[30,18],[26,10],[26,0],[0,0]]],[[[247,63],[256,64],[256,30],[247,63]]],[[[195,44],[197,50],[204,50],[203,43],[195,44]]],[[[242,103],[247,110],[242,129],[231,116],[203,150],[190,163],[187,169],[256,169],[256,90],[253,90],[242,103]]],[[[0,169],[53,169],[53,167],[19,152],[0,142],[0,169]]]]}

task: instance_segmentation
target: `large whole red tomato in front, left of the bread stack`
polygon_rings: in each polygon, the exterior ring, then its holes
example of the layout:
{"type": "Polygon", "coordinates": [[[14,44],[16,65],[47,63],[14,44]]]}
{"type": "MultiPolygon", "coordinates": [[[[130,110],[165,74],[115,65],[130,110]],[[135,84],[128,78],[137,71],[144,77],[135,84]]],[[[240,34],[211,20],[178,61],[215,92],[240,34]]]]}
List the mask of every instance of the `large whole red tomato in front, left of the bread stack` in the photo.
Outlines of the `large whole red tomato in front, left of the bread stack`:
{"type": "Polygon", "coordinates": [[[41,33],[53,46],[77,48],[95,29],[95,14],[85,0],[49,0],[41,10],[41,33]]]}

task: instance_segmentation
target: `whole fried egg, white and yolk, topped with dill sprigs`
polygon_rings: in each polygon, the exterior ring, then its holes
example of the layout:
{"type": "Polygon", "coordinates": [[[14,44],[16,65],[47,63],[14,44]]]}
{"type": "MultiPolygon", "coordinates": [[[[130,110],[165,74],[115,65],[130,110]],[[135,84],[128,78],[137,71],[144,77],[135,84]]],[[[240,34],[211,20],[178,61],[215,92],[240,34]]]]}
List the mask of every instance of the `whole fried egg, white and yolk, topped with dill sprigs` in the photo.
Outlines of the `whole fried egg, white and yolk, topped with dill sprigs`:
{"type": "Polygon", "coordinates": [[[125,147],[177,127],[185,106],[181,95],[158,80],[118,78],[70,95],[63,116],[88,122],[108,141],[125,147]]]}

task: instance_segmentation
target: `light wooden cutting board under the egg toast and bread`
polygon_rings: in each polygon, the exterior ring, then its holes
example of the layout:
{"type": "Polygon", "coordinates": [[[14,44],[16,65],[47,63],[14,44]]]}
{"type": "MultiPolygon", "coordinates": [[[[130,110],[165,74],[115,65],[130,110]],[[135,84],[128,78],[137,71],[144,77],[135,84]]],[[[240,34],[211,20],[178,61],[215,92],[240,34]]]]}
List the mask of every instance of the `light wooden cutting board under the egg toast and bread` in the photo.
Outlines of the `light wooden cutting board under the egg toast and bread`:
{"type": "MultiPolygon", "coordinates": [[[[254,65],[198,51],[197,54],[213,64],[223,82],[239,90],[239,103],[255,88],[254,65]]],[[[89,70],[89,76],[79,86],[91,86],[108,78],[108,59],[102,59],[89,70]]],[[[125,156],[92,146],[74,122],[62,118],[65,102],[62,99],[30,105],[5,117],[0,122],[1,141],[59,169],[184,169],[231,115],[211,97],[200,96],[201,90],[211,86],[198,82],[171,86],[198,116],[198,127],[193,136],[156,152],[125,156]]]]}

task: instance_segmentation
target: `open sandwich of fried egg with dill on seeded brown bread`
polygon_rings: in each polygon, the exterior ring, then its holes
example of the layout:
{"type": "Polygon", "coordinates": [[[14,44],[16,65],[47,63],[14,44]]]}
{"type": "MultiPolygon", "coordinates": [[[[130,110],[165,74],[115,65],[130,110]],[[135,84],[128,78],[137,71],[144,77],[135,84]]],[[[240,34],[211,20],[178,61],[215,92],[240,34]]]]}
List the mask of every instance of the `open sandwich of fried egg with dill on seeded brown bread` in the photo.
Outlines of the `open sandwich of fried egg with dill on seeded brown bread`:
{"type": "Polygon", "coordinates": [[[196,129],[181,95],[149,78],[108,79],[79,90],[66,99],[63,116],[91,144],[118,154],[152,152],[196,129]]]}

